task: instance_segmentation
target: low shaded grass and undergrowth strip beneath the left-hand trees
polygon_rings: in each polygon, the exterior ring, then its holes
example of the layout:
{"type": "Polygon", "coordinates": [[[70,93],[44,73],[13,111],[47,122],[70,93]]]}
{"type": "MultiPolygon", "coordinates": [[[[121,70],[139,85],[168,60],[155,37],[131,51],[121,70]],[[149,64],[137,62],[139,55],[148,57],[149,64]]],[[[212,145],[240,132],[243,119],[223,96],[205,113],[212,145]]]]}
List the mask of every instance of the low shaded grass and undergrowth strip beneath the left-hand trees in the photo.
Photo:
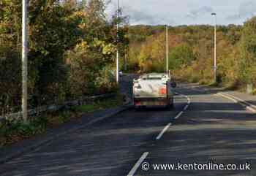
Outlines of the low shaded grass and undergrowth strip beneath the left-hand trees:
{"type": "Polygon", "coordinates": [[[12,121],[6,120],[4,123],[0,123],[0,147],[19,142],[37,134],[43,134],[47,129],[56,128],[70,120],[79,120],[86,113],[118,107],[123,103],[124,96],[118,94],[108,99],[97,100],[89,104],[71,107],[67,110],[48,112],[45,115],[31,119],[29,124],[24,124],[22,121],[12,123],[12,121]]]}

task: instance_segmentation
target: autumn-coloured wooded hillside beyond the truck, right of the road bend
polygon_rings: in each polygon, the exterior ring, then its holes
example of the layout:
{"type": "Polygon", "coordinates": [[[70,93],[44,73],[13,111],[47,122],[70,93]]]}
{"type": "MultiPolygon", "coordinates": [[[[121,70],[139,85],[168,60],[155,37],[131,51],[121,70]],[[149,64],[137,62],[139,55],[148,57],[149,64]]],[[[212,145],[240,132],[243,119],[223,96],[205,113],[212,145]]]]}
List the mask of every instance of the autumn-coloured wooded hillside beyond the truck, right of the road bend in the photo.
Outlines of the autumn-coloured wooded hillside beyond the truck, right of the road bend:
{"type": "MultiPolygon", "coordinates": [[[[165,72],[165,26],[129,28],[129,70],[165,72]]],[[[169,66],[176,79],[213,83],[214,27],[169,28],[169,66]]],[[[256,17],[243,26],[217,26],[217,84],[256,86],[256,17]]]]}

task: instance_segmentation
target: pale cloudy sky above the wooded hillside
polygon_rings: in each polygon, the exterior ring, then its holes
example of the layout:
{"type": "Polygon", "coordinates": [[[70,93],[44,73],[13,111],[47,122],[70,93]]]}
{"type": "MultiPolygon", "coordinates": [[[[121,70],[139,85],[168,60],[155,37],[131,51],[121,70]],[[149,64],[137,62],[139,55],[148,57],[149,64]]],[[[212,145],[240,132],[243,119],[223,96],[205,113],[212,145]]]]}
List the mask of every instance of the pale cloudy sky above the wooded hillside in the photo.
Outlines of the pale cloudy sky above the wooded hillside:
{"type": "MultiPolygon", "coordinates": [[[[116,9],[116,1],[108,5],[108,14],[116,9]]],[[[221,25],[243,24],[256,15],[256,0],[120,0],[120,4],[132,25],[212,24],[211,12],[217,12],[221,25]]]]}

